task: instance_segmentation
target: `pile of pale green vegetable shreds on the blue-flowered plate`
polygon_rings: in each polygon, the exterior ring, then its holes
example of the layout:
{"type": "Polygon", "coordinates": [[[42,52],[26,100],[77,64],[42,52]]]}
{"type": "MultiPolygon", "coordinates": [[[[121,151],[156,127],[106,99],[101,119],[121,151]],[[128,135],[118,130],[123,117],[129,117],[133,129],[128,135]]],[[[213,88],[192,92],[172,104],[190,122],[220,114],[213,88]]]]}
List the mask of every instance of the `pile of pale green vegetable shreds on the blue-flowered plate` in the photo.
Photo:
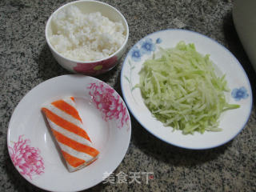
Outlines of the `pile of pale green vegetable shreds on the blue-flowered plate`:
{"type": "Polygon", "coordinates": [[[218,127],[222,112],[239,105],[226,102],[225,75],[215,74],[210,55],[199,54],[193,43],[185,42],[160,48],[157,54],[161,56],[143,63],[138,84],[154,117],[182,134],[222,130],[218,127]]]}

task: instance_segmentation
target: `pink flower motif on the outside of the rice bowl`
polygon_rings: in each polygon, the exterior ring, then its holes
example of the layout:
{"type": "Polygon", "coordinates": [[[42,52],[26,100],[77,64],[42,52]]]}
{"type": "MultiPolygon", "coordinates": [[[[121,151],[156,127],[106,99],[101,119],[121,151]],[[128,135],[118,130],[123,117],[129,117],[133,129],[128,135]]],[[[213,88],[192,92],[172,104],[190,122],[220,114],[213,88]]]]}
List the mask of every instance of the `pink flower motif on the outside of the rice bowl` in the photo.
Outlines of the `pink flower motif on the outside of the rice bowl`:
{"type": "Polygon", "coordinates": [[[113,68],[118,61],[116,56],[101,62],[78,63],[73,69],[82,74],[98,75],[113,68]]]}

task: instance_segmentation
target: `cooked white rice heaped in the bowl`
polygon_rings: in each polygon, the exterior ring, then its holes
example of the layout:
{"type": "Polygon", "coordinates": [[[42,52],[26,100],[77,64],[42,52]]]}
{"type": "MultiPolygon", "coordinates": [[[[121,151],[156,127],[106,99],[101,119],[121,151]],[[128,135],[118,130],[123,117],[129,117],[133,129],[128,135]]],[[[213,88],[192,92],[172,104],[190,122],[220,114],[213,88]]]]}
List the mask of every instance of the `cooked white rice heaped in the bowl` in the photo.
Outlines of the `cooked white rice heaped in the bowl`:
{"type": "Polygon", "coordinates": [[[82,14],[77,6],[52,18],[50,43],[59,54],[79,61],[95,61],[114,54],[126,38],[122,22],[101,13],[82,14]]]}

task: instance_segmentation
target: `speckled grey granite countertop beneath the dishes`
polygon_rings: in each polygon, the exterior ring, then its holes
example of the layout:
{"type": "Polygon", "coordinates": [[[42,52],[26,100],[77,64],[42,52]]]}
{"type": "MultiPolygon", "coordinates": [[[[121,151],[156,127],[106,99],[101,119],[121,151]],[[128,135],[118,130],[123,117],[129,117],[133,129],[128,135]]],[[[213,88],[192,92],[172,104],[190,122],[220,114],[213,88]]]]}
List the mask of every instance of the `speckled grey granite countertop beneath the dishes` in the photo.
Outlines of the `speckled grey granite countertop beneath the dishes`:
{"type": "MultiPolygon", "coordinates": [[[[22,97],[46,79],[70,74],[58,66],[44,37],[47,18],[62,0],[0,1],[0,191],[41,191],[26,182],[10,162],[6,134],[22,97]]],[[[242,63],[255,95],[256,75],[232,21],[227,0],[104,0],[124,14],[130,26],[129,48],[157,30],[182,28],[214,38],[242,63]]],[[[121,93],[122,64],[98,78],[121,93]]],[[[114,174],[154,172],[146,184],[100,183],[88,191],[256,191],[255,104],[240,134],[212,150],[183,150],[158,140],[132,119],[130,147],[114,174]]],[[[53,181],[54,182],[54,181],[53,181]]]]}

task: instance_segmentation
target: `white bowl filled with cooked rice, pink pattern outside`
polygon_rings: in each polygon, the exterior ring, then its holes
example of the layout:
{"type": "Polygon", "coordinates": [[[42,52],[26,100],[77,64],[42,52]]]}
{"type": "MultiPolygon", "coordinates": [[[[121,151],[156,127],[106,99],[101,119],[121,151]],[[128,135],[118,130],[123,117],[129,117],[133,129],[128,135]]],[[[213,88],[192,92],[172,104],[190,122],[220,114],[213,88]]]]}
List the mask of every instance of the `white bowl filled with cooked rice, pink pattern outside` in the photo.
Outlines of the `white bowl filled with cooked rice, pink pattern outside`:
{"type": "Polygon", "coordinates": [[[126,51],[126,18],[104,2],[81,0],[55,10],[46,42],[57,62],[78,74],[98,75],[118,64],[126,51]]]}

